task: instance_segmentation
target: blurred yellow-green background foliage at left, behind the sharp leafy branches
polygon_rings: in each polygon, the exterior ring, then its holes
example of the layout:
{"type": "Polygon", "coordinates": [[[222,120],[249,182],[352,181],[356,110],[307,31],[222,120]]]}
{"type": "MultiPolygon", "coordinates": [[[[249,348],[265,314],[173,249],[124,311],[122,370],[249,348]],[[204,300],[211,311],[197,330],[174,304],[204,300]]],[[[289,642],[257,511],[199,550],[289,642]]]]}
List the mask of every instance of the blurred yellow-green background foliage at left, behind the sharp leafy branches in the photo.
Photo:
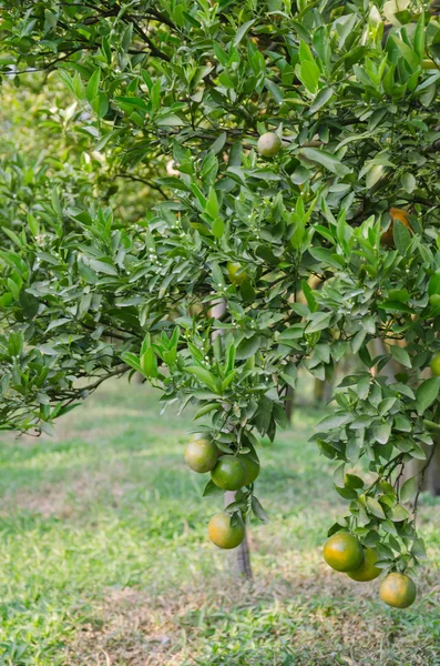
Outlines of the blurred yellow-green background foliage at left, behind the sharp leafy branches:
{"type": "MultiPolygon", "coordinates": [[[[117,151],[95,150],[94,118],[55,72],[22,75],[18,85],[6,80],[0,127],[1,234],[53,228],[60,210],[95,214],[109,205],[121,222],[133,224],[162,196],[147,180],[149,169],[130,173],[117,151]]],[[[74,224],[65,214],[63,223],[74,224]]]]}

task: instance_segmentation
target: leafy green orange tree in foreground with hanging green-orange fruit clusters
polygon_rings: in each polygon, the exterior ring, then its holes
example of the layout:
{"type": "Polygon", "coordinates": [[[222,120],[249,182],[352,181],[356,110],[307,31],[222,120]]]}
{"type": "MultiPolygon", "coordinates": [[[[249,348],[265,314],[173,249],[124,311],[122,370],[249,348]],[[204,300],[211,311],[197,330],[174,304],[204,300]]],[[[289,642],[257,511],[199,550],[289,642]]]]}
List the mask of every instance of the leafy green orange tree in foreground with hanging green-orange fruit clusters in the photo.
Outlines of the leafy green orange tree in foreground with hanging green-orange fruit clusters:
{"type": "Polygon", "coordinates": [[[196,407],[193,444],[225,456],[205,494],[239,485],[231,525],[212,527],[235,545],[242,516],[264,518],[245,481],[298,367],[323,380],[355,353],[314,437],[348,504],[329,535],[410,572],[423,544],[401,470],[432,451],[440,413],[440,379],[421,374],[440,349],[436,3],[0,7],[3,77],[60,77],[95,150],[133,178],[156,165],[164,193],[130,224],[84,201],[49,213],[39,244],[24,226],[4,238],[2,427],[50,431],[108,376],[143,373],[164,406],[196,407]],[[374,356],[374,339],[391,344],[374,356]]]}

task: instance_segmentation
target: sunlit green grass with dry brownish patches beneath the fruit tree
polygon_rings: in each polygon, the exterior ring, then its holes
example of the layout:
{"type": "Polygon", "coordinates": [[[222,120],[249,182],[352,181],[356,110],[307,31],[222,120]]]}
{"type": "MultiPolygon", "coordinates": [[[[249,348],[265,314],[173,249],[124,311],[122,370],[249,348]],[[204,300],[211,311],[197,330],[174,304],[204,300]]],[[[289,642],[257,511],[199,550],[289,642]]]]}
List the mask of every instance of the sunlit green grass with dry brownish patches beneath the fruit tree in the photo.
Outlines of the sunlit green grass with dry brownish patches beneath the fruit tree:
{"type": "Polygon", "coordinates": [[[206,525],[218,498],[183,464],[190,416],[109,383],[58,438],[2,436],[0,665],[440,664],[440,502],[424,496],[430,562],[408,610],[321,559],[342,504],[307,440],[317,414],[260,451],[270,522],[250,531],[253,585],[231,579],[206,525]]]}

